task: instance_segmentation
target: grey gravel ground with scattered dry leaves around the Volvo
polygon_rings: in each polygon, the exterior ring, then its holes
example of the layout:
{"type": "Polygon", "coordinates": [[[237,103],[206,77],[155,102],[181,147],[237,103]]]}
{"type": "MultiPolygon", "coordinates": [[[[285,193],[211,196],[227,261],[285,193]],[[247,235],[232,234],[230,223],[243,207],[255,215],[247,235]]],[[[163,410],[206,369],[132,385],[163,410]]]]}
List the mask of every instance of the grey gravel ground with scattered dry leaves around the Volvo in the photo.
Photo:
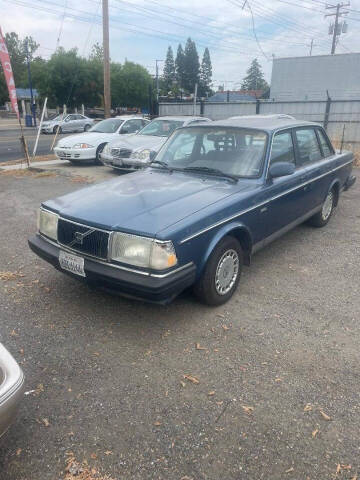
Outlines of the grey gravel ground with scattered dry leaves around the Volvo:
{"type": "Polygon", "coordinates": [[[116,480],[360,478],[360,183],[218,308],[110,296],[32,254],[40,201],[81,186],[0,174],[0,271],[23,275],[0,280],[0,341],[35,390],[0,479],[63,479],[67,455],[116,480]]]}

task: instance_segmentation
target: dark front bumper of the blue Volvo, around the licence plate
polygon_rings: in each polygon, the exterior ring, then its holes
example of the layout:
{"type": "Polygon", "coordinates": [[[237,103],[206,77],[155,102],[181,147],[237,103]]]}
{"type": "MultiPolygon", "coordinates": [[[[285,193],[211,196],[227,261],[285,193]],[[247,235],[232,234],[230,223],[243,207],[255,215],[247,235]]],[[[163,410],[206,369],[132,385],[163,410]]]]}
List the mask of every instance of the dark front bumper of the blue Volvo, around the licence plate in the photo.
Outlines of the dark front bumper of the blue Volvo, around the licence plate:
{"type": "MultiPolygon", "coordinates": [[[[194,264],[189,264],[166,276],[161,276],[136,273],[130,269],[122,269],[85,256],[84,270],[86,277],[84,279],[60,267],[60,246],[50,243],[39,234],[29,238],[29,246],[39,257],[77,280],[85,280],[105,290],[148,302],[169,303],[195,281],[196,267],[194,264]]],[[[76,252],[73,253],[78,255],[76,252]]]]}

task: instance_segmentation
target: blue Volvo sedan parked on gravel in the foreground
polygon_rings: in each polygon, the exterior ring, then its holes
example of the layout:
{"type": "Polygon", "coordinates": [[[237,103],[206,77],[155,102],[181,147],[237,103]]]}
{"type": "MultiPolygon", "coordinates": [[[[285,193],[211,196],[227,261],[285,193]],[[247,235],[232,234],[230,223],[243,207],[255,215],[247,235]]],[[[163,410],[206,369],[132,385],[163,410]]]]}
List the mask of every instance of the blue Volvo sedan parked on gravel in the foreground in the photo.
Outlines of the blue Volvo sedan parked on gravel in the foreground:
{"type": "Polygon", "coordinates": [[[260,248],[323,227],[354,182],[353,155],[316,123],[246,117],[177,129],[144,171],[41,205],[31,249],[75,278],[166,303],[187,287],[233,295],[260,248]]]}

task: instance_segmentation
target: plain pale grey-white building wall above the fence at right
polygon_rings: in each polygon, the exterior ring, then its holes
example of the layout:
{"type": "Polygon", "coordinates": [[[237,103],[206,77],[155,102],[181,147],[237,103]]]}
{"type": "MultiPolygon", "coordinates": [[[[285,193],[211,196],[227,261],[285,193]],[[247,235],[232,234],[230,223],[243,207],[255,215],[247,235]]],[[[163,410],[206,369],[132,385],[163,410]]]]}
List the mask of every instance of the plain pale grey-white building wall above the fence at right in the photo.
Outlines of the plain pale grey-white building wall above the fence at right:
{"type": "Polygon", "coordinates": [[[360,53],[274,58],[270,99],[360,99],[360,53]]]}

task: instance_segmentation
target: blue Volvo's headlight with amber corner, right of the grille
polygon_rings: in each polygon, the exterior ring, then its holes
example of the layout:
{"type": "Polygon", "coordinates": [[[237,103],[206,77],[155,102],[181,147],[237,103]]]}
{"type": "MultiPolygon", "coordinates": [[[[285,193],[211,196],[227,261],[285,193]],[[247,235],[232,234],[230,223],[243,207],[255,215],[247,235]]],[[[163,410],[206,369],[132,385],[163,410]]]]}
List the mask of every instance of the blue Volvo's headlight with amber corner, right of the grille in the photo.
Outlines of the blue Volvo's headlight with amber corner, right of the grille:
{"type": "Polygon", "coordinates": [[[110,256],[117,262],[154,270],[165,270],[177,264],[171,241],[158,242],[152,238],[119,232],[113,233],[110,256]]]}

